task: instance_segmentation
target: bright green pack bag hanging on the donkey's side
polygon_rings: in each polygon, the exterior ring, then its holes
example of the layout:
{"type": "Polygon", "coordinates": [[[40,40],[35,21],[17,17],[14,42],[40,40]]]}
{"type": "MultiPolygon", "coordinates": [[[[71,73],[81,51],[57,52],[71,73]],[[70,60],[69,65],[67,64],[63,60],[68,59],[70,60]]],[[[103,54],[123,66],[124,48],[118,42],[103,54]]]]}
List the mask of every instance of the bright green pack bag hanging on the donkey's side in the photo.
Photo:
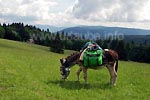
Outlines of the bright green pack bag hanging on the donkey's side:
{"type": "Polygon", "coordinates": [[[102,64],[102,50],[86,50],[83,56],[85,67],[97,67],[102,64]]]}

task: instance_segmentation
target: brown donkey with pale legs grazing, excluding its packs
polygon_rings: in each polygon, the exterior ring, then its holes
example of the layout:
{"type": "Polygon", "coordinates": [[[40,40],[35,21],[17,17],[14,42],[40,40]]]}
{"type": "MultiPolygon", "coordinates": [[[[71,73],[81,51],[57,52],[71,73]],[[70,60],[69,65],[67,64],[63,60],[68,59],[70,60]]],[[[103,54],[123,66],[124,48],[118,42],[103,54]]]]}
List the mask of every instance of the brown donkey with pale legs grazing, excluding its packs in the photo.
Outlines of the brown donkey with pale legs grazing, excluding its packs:
{"type": "Polygon", "coordinates": [[[106,66],[109,73],[110,73],[110,84],[113,86],[116,85],[116,78],[117,78],[117,70],[118,70],[118,53],[111,49],[104,49],[103,50],[103,64],[98,67],[85,67],[83,62],[79,60],[81,53],[76,52],[71,54],[66,58],[60,59],[60,71],[62,79],[67,79],[70,73],[70,68],[75,64],[79,65],[79,69],[77,71],[77,79],[80,80],[80,73],[83,71],[83,76],[85,83],[87,84],[87,70],[88,69],[100,69],[102,66],[106,66]]]}

